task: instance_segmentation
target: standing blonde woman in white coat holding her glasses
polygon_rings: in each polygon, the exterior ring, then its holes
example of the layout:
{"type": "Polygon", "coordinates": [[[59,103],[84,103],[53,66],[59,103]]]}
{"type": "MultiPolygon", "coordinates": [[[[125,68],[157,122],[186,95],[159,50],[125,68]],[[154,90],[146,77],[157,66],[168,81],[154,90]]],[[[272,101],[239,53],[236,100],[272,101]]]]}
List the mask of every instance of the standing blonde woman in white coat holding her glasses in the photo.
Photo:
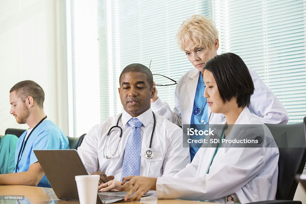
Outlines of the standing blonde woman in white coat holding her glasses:
{"type": "MultiPolygon", "coordinates": [[[[175,89],[174,111],[156,95],[151,99],[153,111],[169,121],[183,124],[218,124],[225,120],[223,114],[211,113],[207,100],[203,97],[204,66],[217,55],[219,48],[218,30],[215,23],[203,16],[193,15],[185,20],[177,32],[178,46],[186,54],[194,68],[186,72],[177,82],[175,89]]],[[[255,91],[248,109],[260,117],[264,123],[286,124],[288,114],[282,103],[259,78],[253,69],[249,69],[255,91]]],[[[191,159],[198,147],[190,148],[191,159]]]]}

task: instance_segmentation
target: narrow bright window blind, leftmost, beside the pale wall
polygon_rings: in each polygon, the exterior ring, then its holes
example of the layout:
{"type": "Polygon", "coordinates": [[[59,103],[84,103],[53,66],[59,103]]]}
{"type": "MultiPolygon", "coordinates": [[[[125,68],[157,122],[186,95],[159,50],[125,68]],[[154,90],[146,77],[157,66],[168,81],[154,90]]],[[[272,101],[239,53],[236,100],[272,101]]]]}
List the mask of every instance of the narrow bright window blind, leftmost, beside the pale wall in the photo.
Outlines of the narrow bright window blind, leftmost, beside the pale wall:
{"type": "Polygon", "coordinates": [[[100,122],[98,2],[66,0],[69,136],[100,122]]]}

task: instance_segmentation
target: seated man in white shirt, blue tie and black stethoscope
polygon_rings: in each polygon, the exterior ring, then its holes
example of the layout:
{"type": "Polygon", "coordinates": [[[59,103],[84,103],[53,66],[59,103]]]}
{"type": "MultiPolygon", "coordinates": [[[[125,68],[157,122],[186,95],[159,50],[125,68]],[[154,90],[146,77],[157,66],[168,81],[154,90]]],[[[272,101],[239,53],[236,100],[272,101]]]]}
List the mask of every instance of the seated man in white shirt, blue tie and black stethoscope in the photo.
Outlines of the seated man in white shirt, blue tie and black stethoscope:
{"type": "Polygon", "coordinates": [[[183,169],[190,163],[189,148],[183,148],[182,129],[151,110],[151,71],[128,65],[119,83],[124,111],[91,128],[78,148],[86,171],[120,181],[131,175],[172,176],[183,169]]]}

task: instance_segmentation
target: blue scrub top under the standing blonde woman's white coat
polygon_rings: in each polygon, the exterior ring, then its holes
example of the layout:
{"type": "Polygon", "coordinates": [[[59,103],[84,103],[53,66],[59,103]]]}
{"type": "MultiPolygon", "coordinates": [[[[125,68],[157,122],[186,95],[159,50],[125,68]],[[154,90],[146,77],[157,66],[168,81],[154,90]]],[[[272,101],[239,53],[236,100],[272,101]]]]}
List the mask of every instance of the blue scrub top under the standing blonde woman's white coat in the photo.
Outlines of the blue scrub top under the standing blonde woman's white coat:
{"type": "MultiPolygon", "coordinates": [[[[208,104],[206,103],[206,105],[204,106],[203,109],[203,105],[206,101],[206,98],[204,97],[204,91],[205,91],[205,83],[203,81],[203,76],[202,73],[200,72],[200,76],[199,76],[199,80],[198,80],[198,85],[196,87],[196,95],[194,97],[194,102],[193,102],[193,109],[192,109],[192,113],[191,113],[191,120],[190,120],[190,124],[204,124],[204,123],[200,123],[200,121],[204,120],[206,123],[208,121],[208,104]],[[199,114],[197,116],[193,115],[193,111],[196,108],[201,108],[202,111],[202,115],[199,114]],[[200,118],[201,115],[201,118],[200,118]]],[[[207,123],[208,124],[208,123],[207,123]]],[[[194,138],[190,137],[191,139],[200,139],[200,136],[195,136],[194,138]]],[[[197,145],[197,144],[190,144],[191,146],[197,145]]],[[[200,147],[190,147],[190,157],[191,157],[191,161],[194,158],[194,155],[196,154],[196,152],[200,149],[200,147]]]]}

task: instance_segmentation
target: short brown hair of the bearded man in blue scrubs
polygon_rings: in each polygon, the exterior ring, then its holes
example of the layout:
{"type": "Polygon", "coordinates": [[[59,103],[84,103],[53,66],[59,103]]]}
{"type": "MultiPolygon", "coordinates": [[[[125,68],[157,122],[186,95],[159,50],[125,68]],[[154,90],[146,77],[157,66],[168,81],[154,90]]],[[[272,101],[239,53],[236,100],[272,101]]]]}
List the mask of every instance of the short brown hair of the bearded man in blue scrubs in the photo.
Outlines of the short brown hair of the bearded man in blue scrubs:
{"type": "Polygon", "coordinates": [[[43,88],[40,87],[36,82],[31,80],[25,80],[16,83],[9,93],[16,91],[16,94],[23,102],[28,98],[28,96],[32,96],[37,105],[40,108],[43,108],[43,102],[45,101],[45,92],[43,88]]]}

